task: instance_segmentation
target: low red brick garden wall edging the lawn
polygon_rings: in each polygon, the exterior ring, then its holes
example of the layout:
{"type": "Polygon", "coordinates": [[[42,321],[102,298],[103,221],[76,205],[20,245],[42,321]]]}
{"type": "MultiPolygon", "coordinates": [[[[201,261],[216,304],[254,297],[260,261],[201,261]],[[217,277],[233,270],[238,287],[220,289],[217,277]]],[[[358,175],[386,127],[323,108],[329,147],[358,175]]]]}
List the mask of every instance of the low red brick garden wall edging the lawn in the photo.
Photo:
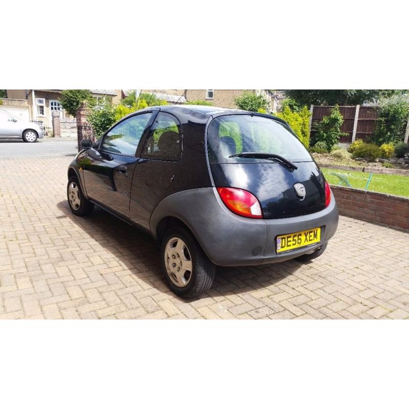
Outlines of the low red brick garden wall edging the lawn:
{"type": "Polygon", "coordinates": [[[339,213],[409,230],[409,198],[331,186],[339,213]]]}

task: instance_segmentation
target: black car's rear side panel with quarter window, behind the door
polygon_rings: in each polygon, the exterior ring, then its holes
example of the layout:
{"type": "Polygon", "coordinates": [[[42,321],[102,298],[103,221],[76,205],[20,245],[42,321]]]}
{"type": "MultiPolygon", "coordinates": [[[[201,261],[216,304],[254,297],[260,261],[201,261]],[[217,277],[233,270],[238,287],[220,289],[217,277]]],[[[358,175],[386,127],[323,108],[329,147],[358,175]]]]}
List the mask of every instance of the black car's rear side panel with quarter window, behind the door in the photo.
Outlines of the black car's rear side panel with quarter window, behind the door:
{"type": "Polygon", "coordinates": [[[183,180],[182,143],[180,122],[168,112],[159,112],[146,134],[132,182],[130,219],[146,229],[157,203],[177,191],[183,180]]]}

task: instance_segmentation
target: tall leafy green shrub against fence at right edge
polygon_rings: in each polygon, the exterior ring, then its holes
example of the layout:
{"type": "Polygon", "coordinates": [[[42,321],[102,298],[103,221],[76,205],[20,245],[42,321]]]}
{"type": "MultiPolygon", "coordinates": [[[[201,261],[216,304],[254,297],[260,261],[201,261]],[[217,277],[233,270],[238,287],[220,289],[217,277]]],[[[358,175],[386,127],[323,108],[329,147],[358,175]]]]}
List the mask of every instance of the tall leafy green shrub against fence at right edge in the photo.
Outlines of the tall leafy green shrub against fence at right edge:
{"type": "Polygon", "coordinates": [[[408,116],[409,102],[404,97],[381,100],[378,125],[372,142],[378,145],[403,142],[408,116]]]}

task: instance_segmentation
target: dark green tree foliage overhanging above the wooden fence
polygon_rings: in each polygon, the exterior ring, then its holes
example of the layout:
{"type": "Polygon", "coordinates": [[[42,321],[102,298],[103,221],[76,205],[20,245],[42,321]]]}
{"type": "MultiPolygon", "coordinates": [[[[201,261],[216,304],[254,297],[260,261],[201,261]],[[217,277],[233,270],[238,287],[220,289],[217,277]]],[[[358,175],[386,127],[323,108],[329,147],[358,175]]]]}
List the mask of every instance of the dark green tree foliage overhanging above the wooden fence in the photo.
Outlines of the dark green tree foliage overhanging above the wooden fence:
{"type": "Polygon", "coordinates": [[[299,105],[358,105],[407,93],[407,89],[286,89],[299,105]]]}

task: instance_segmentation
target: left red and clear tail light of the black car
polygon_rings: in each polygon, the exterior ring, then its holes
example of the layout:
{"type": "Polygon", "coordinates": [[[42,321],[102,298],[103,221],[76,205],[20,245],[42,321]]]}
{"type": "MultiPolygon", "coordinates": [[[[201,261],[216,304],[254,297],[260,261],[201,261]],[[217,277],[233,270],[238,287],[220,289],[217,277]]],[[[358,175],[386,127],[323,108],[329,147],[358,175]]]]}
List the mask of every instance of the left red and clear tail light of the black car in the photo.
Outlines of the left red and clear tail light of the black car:
{"type": "Polygon", "coordinates": [[[221,200],[233,213],[239,216],[262,219],[260,202],[257,197],[243,189],[217,188],[221,200]]]}

